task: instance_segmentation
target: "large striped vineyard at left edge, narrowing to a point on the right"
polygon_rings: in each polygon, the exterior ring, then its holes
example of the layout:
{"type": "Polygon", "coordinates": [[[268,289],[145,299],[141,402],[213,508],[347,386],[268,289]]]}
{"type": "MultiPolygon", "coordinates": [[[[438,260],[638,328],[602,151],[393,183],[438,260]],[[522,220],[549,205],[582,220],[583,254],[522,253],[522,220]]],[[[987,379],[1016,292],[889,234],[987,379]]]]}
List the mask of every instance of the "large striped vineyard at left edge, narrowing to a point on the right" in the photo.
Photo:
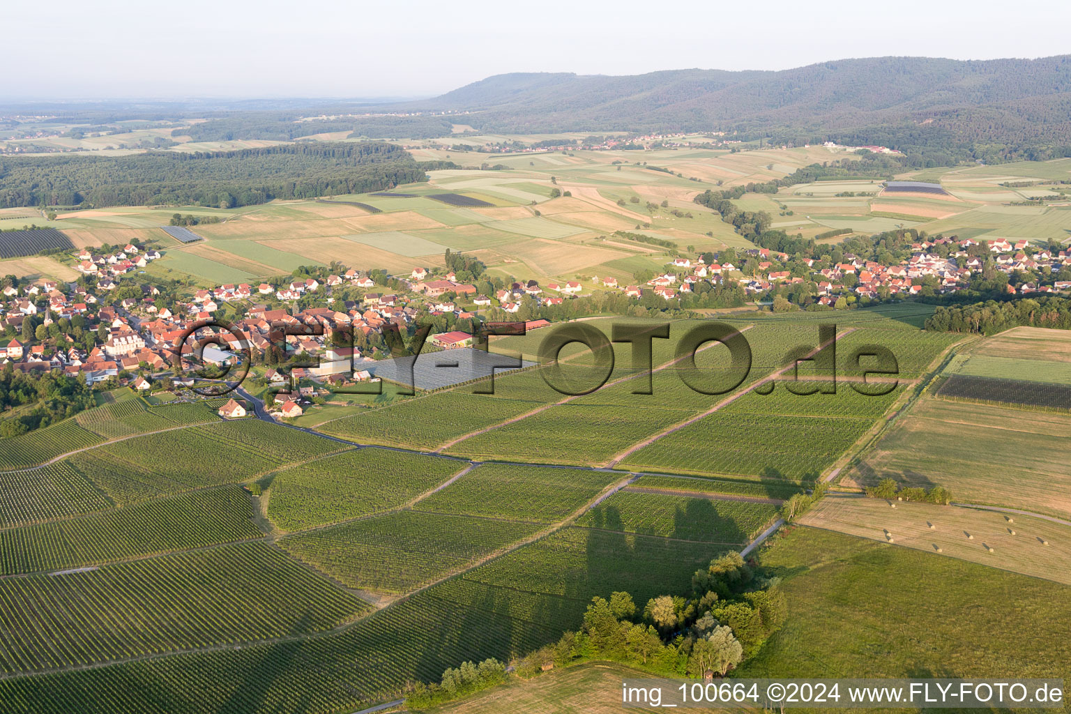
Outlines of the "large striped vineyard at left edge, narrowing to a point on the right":
{"type": "Polygon", "coordinates": [[[368,609],[260,543],[5,578],[0,602],[6,673],[312,633],[368,609]]]}

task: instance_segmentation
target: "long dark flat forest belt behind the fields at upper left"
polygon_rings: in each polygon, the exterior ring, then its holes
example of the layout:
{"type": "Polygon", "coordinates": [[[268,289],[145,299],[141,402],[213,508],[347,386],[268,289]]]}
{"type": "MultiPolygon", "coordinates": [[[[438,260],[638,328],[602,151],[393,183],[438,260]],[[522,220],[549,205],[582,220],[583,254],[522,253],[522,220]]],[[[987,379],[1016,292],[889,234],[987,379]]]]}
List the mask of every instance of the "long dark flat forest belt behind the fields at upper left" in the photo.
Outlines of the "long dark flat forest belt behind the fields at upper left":
{"type": "Polygon", "coordinates": [[[384,191],[426,179],[382,142],[298,143],[240,151],[126,156],[0,157],[0,208],[214,206],[384,191]]]}

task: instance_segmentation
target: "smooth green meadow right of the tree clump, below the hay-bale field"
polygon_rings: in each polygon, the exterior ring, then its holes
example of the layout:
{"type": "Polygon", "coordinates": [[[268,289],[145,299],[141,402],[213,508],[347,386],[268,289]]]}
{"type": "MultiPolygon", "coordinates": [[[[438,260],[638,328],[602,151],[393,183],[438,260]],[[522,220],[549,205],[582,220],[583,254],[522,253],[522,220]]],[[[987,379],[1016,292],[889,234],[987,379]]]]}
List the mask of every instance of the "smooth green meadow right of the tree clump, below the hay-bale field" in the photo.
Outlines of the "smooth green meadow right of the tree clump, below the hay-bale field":
{"type": "Polygon", "coordinates": [[[1071,642],[1052,626],[1071,618],[1067,586],[805,527],[759,562],[784,577],[788,619],[734,677],[1071,674],[1071,642]]]}

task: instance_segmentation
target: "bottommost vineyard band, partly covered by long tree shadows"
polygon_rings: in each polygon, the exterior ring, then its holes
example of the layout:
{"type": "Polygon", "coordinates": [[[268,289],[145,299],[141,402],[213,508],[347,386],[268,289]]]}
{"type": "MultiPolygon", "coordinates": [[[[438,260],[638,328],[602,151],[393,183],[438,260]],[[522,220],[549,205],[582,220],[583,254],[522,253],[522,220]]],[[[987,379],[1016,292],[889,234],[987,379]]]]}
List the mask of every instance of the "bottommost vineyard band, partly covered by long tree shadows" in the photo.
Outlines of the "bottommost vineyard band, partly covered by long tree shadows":
{"type": "Polygon", "coordinates": [[[0,699],[14,714],[352,711],[458,662],[508,659],[554,641],[579,624],[593,595],[627,590],[644,603],[679,590],[713,555],[708,544],[568,529],[338,634],[0,680],[0,699]]]}

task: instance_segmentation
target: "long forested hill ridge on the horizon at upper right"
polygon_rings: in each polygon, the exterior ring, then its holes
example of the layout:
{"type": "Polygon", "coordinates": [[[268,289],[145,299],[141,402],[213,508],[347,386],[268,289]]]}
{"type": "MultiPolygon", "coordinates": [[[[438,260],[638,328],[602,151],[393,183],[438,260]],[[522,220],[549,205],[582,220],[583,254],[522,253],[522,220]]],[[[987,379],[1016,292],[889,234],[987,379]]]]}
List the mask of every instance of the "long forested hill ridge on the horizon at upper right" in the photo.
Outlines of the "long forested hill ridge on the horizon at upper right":
{"type": "Polygon", "coordinates": [[[504,74],[405,106],[476,111],[464,123],[481,132],[727,131],[1047,158],[1071,153],[1071,56],[884,57],[781,72],[619,77],[504,74]]]}

